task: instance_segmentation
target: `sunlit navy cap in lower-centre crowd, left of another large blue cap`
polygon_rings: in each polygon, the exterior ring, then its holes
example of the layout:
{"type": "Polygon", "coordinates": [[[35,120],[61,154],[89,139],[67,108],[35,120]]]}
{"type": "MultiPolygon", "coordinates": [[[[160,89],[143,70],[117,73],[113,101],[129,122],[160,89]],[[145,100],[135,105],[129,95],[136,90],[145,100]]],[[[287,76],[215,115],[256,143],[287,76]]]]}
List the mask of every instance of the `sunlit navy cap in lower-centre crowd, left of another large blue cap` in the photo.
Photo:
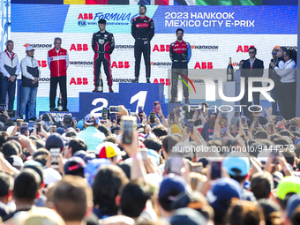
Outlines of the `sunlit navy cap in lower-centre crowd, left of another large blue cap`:
{"type": "Polygon", "coordinates": [[[159,199],[168,199],[173,201],[178,194],[186,192],[185,187],[186,183],[182,176],[169,174],[168,176],[165,176],[161,182],[158,197],[159,199]]]}

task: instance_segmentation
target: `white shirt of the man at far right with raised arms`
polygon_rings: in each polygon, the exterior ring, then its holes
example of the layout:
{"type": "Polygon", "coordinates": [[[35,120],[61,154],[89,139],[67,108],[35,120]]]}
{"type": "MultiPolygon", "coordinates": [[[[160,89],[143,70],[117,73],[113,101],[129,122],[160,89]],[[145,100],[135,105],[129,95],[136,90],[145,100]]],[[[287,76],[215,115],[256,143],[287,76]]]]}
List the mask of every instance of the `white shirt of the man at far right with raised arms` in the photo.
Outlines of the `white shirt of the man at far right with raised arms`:
{"type": "Polygon", "coordinates": [[[278,66],[275,68],[276,73],[281,76],[281,83],[292,83],[296,81],[296,63],[293,59],[285,62],[281,69],[278,66]]]}

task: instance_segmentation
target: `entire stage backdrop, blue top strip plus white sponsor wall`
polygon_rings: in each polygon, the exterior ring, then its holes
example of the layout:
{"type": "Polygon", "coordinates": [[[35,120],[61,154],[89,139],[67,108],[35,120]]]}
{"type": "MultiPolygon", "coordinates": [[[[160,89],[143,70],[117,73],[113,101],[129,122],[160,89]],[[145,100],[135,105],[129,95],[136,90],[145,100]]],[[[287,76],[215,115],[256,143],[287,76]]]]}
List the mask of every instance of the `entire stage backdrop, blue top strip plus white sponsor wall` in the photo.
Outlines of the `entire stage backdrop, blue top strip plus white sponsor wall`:
{"type": "MultiPolygon", "coordinates": [[[[69,109],[78,110],[80,92],[94,89],[94,51],[92,35],[99,30],[97,21],[107,19],[107,30],[114,34],[116,49],[111,55],[113,89],[134,77],[134,39],[131,19],[138,16],[137,5],[11,4],[11,39],[21,60],[26,46],[33,45],[41,66],[37,110],[49,109],[49,68],[47,52],[54,48],[55,37],[63,39],[69,51],[69,109]]],[[[257,57],[265,68],[274,47],[296,49],[297,6],[147,6],[146,15],[154,19],[155,35],[151,41],[151,81],[169,86],[171,68],[169,44],[176,41],[176,29],[184,29],[184,41],[191,44],[189,68],[225,69],[232,57],[247,59],[248,48],[258,49],[257,57]],[[281,19],[286,15],[289,19],[281,19]]],[[[146,82],[141,64],[140,82],[146,82]]],[[[101,69],[102,78],[106,78],[101,69]]],[[[267,74],[265,74],[267,76],[267,74]]],[[[59,90],[59,88],[58,88],[59,90]]],[[[57,90],[57,94],[59,91],[57,90]]],[[[107,82],[104,91],[108,92],[107,82]]]]}

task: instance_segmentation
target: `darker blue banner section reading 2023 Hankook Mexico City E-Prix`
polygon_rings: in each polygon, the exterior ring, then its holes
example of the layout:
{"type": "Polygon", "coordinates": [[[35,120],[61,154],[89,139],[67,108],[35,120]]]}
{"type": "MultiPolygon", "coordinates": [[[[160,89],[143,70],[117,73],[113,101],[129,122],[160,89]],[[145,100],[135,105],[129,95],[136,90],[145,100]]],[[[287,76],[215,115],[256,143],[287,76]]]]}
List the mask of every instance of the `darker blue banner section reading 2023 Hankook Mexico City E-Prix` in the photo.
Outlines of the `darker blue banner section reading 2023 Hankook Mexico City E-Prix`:
{"type": "Polygon", "coordinates": [[[297,7],[279,6],[160,6],[154,14],[155,31],[191,34],[297,34],[297,7]],[[276,11],[290,13],[289,26],[274,21],[276,11]],[[270,29],[276,27],[276,29],[270,29]]]}

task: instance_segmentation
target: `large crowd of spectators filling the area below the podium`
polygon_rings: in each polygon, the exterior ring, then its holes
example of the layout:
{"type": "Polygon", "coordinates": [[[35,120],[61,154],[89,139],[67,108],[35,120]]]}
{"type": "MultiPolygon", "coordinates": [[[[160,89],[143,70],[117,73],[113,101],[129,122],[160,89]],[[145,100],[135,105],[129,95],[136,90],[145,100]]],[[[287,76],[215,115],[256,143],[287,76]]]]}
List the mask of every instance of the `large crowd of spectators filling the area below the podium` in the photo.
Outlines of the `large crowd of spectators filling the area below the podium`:
{"type": "Polygon", "coordinates": [[[3,223],[300,224],[300,118],[201,104],[131,113],[131,133],[124,106],[62,123],[44,114],[28,131],[4,110],[3,223]]]}

